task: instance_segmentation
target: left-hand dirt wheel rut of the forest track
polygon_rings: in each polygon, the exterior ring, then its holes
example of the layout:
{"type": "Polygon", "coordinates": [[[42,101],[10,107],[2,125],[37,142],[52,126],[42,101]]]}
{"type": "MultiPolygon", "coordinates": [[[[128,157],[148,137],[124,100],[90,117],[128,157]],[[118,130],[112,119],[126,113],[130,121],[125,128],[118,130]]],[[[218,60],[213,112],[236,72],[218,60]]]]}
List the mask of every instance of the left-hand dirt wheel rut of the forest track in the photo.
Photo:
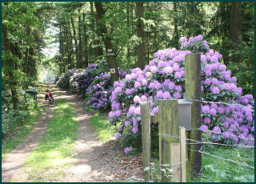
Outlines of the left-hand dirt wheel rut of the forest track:
{"type": "MultiPolygon", "coordinates": [[[[46,86],[48,87],[48,86],[46,86]]],[[[39,106],[46,106],[44,103],[44,92],[38,94],[39,106]]],[[[34,129],[24,138],[24,141],[14,148],[2,160],[2,182],[20,181],[20,170],[25,162],[26,157],[36,148],[38,142],[46,134],[46,128],[50,118],[53,117],[54,106],[49,107],[49,110],[43,111],[34,129]]]]}

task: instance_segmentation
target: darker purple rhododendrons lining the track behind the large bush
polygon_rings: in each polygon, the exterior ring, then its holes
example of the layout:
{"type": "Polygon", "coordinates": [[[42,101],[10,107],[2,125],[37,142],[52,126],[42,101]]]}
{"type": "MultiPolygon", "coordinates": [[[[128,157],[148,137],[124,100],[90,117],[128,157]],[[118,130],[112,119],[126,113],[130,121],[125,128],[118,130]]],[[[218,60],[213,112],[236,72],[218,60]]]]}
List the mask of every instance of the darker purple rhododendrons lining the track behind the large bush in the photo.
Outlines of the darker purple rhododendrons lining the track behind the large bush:
{"type": "MultiPolygon", "coordinates": [[[[130,70],[118,67],[120,78],[129,74],[130,70]]],[[[75,94],[86,96],[86,105],[94,110],[110,107],[110,94],[113,87],[110,85],[110,72],[107,62],[102,60],[99,64],[90,64],[86,70],[68,70],[59,78],[58,86],[70,89],[75,94]]]]}

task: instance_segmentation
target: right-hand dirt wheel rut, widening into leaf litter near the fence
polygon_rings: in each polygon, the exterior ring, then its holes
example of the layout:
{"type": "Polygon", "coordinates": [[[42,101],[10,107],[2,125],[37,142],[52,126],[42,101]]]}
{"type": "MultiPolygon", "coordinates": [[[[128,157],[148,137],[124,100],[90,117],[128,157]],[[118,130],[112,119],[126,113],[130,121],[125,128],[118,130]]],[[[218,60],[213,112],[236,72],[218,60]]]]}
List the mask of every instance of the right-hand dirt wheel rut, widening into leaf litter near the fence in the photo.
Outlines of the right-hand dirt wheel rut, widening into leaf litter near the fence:
{"type": "Polygon", "coordinates": [[[92,114],[86,112],[83,98],[66,92],[74,105],[79,123],[78,140],[75,142],[75,162],[66,170],[61,182],[124,182],[128,178],[142,178],[141,158],[126,157],[114,139],[109,142],[98,140],[90,124],[92,114]]]}

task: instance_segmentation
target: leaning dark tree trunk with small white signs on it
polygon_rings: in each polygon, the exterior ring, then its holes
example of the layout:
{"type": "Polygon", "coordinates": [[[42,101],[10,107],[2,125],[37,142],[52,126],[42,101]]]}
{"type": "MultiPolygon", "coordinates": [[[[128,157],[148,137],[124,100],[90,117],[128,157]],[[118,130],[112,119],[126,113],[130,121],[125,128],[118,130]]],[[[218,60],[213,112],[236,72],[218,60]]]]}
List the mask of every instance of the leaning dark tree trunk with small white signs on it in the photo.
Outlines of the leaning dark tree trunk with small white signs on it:
{"type": "MultiPolygon", "coordinates": [[[[96,7],[98,20],[100,21],[102,19],[103,15],[105,14],[103,7],[102,7],[102,2],[94,2],[94,4],[96,7]]],[[[108,35],[106,25],[101,23],[99,26],[101,27],[101,35],[102,35],[102,39],[103,39],[106,53],[107,53],[106,61],[108,63],[109,68],[115,70],[114,73],[111,73],[111,84],[113,85],[114,82],[118,81],[118,79],[119,79],[118,65],[117,65],[117,62],[115,59],[115,52],[114,52],[114,48],[111,43],[111,38],[108,35]],[[109,53],[111,53],[111,55],[109,53]]]]}

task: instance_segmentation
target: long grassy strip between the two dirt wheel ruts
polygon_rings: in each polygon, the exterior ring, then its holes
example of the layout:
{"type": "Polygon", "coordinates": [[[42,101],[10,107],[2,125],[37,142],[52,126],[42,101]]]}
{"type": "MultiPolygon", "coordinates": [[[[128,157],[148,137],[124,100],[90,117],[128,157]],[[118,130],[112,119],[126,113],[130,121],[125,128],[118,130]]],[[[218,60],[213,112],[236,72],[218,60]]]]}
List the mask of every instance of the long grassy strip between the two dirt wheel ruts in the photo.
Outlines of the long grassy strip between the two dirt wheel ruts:
{"type": "Polygon", "coordinates": [[[66,99],[54,103],[54,118],[49,122],[46,136],[26,158],[24,170],[30,182],[58,181],[64,175],[64,169],[74,162],[72,154],[78,130],[74,106],[66,99]]]}

